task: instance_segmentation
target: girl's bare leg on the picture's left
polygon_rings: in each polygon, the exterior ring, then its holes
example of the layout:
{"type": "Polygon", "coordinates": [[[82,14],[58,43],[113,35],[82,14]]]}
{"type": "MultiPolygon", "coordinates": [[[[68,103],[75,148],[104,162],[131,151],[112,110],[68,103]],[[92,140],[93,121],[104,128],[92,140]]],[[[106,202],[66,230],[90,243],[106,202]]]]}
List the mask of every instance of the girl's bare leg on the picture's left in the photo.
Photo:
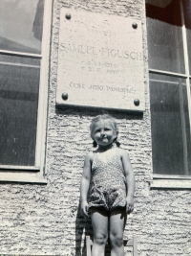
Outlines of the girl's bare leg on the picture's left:
{"type": "Polygon", "coordinates": [[[108,212],[103,207],[93,207],[91,213],[94,231],[92,256],[104,256],[108,239],[108,212]]]}

